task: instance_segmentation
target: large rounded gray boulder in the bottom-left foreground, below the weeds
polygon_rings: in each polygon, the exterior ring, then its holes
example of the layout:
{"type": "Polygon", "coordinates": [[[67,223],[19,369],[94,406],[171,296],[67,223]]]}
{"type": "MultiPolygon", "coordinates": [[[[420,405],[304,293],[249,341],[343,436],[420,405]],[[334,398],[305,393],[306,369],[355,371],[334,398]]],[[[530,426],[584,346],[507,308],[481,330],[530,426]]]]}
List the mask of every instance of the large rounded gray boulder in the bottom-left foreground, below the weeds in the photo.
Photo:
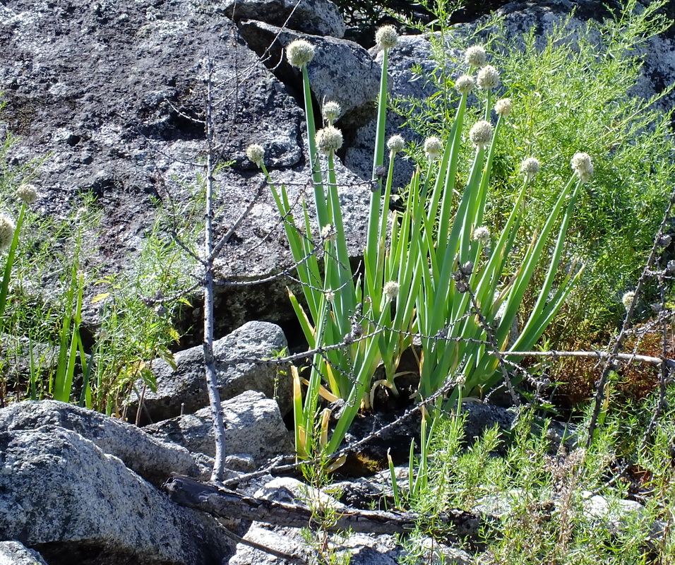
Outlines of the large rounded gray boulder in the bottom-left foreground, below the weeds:
{"type": "Polygon", "coordinates": [[[215,519],[173,504],[75,432],[0,432],[0,453],[0,539],[50,565],[220,565],[229,554],[215,519]]]}

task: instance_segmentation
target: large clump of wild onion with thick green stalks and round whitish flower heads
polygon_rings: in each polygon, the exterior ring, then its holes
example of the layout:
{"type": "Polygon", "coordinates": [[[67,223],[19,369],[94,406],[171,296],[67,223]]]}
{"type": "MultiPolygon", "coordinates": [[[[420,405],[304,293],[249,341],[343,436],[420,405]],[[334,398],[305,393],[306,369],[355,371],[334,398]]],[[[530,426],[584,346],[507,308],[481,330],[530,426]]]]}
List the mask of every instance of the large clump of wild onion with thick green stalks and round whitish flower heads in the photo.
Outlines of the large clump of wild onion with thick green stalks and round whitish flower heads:
{"type": "MultiPolygon", "coordinates": [[[[494,105],[497,119],[493,126],[491,96],[500,84],[499,73],[485,64],[482,47],[467,52],[469,69],[456,83],[460,101],[449,138],[426,140],[428,165],[424,172],[417,169],[405,210],[393,213],[388,224],[395,156],[405,148],[405,140],[393,136],[385,143],[388,52],[396,42],[395,30],[390,26],[381,28],[376,37],[383,61],[362,280],[350,268],[337,196],[334,159],[342,145],[342,133],[333,123],[340,108],[334,102],[326,102],[326,124],[317,131],[307,73],[313,48],[304,40],[290,44],[287,57],[303,77],[318,233],[312,232],[306,204],[302,203],[301,218],[297,218],[285,187],[273,184],[263,162],[263,148],[251,145],[247,150],[249,158],[268,176],[277,208],[285,218],[307,311],[293,295],[292,304],[309,347],[321,349],[313,357],[308,379],[301,379],[298,371],[293,371],[296,446],[301,458],[313,456],[316,451],[336,451],[359,408],[371,403],[376,386],[386,386],[398,394],[396,371],[402,353],[412,345],[412,331],[422,335],[420,398],[429,398],[448,379],[462,382],[464,393],[494,386],[503,378],[503,373],[497,371],[500,352],[532,347],[580,274],[573,266],[568,275],[558,277],[575,198],[592,174],[590,157],[579,153],[573,157],[573,177],[561,190],[542,230],[534,235],[522,256],[522,265],[510,279],[505,276],[525,192],[534,182],[539,162],[533,157],[523,162],[520,194],[503,231],[492,234],[490,227],[484,225],[484,210],[499,131],[512,108],[510,100],[499,100],[494,105]],[[476,78],[471,76],[475,71],[476,78]],[[455,201],[467,96],[476,85],[485,97],[484,119],[473,124],[468,133],[474,159],[465,189],[455,201]],[[388,169],[383,167],[386,150],[388,169]],[[386,177],[383,172],[388,173],[386,177]],[[556,244],[549,253],[549,235],[556,226],[556,244]],[[314,252],[317,241],[323,246],[323,272],[314,252]],[[539,299],[520,334],[513,335],[525,290],[535,267],[544,258],[549,260],[549,269],[539,299]],[[379,364],[385,369],[385,378],[373,383],[379,364]],[[304,400],[301,383],[307,388],[304,400]],[[345,400],[330,437],[330,410],[318,417],[321,396],[345,400]],[[316,424],[319,420],[321,423],[316,424]]],[[[457,397],[452,395],[450,400],[457,397]]]]}

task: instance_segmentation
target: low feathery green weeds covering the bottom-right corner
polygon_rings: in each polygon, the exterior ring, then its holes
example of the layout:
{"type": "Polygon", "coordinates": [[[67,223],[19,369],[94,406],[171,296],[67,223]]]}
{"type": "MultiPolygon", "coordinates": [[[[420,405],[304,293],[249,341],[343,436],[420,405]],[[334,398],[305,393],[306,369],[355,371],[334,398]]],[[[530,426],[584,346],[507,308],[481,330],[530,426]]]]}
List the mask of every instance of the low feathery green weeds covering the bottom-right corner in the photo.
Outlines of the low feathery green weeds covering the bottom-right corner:
{"type": "MultiPolygon", "coordinates": [[[[674,393],[671,388],[669,399],[674,393]]],[[[440,418],[424,465],[419,457],[414,463],[416,473],[424,470],[424,489],[413,492],[411,482],[399,494],[403,507],[426,516],[402,540],[405,562],[428,554],[434,516],[472,508],[496,518],[486,524],[476,563],[671,563],[674,413],[664,415],[650,448],[626,441],[640,435],[653,403],[648,399],[631,418],[609,417],[588,449],[580,447],[583,433],[559,444],[533,410],[522,412],[508,434],[488,429],[474,439],[465,437],[461,417],[440,418]],[[626,459],[631,472],[616,480],[617,461],[626,459]]],[[[468,542],[466,548],[475,549],[468,542]]]]}

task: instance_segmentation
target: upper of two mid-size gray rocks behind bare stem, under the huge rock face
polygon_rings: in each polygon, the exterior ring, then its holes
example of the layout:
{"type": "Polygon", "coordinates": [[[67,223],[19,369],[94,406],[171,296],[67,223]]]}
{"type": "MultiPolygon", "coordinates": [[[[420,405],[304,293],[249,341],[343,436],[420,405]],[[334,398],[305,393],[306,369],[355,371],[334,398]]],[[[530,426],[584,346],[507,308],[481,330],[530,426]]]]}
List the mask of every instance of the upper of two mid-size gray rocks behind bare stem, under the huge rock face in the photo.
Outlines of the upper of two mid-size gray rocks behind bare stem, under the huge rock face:
{"type": "MultiPolygon", "coordinates": [[[[290,374],[281,374],[277,367],[237,359],[265,359],[286,347],[286,338],[279,326],[266,322],[249,322],[213,343],[215,370],[221,400],[234,398],[244,391],[260,391],[275,398],[282,414],[291,408],[290,374]]],[[[203,347],[178,352],[177,369],[158,359],[153,364],[157,391],[148,388],[143,395],[141,422],[160,422],[183,413],[192,414],[208,406],[204,373],[203,347]]],[[[142,386],[142,385],[141,385],[142,386]]],[[[129,415],[136,418],[138,398],[129,403],[129,415]]]]}

